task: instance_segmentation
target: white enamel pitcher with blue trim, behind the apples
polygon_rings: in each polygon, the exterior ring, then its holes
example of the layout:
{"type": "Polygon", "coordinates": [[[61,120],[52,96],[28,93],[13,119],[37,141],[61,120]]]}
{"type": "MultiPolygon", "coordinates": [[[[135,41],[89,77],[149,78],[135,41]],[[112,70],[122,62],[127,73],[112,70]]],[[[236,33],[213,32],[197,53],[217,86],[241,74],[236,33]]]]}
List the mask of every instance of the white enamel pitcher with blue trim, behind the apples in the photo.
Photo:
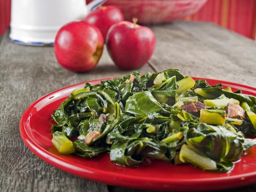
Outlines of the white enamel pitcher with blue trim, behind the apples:
{"type": "Polygon", "coordinates": [[[106,0],[12,0],[11,33],[17,44],[52,45],[58,29],[82,20],[106,0]]]}

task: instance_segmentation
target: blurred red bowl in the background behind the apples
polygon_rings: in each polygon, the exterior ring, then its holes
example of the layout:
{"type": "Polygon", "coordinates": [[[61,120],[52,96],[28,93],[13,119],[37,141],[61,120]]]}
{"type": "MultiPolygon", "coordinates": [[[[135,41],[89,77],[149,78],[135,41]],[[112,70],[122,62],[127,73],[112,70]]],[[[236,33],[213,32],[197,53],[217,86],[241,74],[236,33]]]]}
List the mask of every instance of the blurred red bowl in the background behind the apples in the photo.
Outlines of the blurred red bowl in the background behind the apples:
{"type": "MultiPolygon", "coordinates": [[[[87,0],[90,3],[92,0],[87,0]]],[[[207,0],[108,0],[104,5],[119,7],[125,20],[139,23],[166,23],[197,12],[207,0]]]]}

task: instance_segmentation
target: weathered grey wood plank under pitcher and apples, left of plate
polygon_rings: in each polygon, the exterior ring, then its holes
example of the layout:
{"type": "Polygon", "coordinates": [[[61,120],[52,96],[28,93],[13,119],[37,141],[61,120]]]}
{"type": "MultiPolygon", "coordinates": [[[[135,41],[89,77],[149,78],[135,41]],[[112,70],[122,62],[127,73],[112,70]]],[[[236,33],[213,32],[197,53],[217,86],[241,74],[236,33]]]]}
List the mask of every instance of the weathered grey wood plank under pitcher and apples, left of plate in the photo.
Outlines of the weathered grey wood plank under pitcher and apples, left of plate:
{"type": "MultiPolygon", "coordinates": [[[[143,72],[151,71],[146,65],[143,72]]],[[[102,183],[88,181],[50,166],[24,145],[19,121],[25,109],[53,90],[93,79],[122,76],[104,52],[96,69],[73,73],[56,61],[52,47],[13,44],[8,35],[0,45],[0,186],[5,191],[108,192],[102,183]]],[[[2,191],[1,189],[1,191],[2,191]]]]}

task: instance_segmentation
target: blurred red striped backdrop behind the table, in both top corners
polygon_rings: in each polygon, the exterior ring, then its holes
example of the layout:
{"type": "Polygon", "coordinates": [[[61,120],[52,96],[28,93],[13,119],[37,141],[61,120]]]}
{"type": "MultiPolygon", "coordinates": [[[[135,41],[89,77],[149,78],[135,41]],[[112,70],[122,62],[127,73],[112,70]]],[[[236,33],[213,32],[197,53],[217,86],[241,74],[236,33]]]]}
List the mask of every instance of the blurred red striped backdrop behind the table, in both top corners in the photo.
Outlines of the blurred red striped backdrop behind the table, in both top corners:
{"type": "MultiPolygon", "coordinates": [[[[11,0],[0,0],[0,35],[10,23],[11,0]]],[[[208,0],[206,5],[184,20],[214,22],[255,39],[256,0],[208,0]]]]}

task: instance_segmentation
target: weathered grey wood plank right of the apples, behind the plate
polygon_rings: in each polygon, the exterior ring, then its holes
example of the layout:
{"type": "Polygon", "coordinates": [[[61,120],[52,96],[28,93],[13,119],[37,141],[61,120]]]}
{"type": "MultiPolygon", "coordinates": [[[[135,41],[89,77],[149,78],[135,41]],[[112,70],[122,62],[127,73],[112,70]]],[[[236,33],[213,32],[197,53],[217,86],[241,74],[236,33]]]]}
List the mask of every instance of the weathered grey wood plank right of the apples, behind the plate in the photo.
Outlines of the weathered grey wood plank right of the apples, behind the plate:
{"type": "Polygon", "coordinates": [[[256,43],[212,23],[175,22],[153,26],[157,46],[150,63],[186,75],[255,86],[256,43]]]}

